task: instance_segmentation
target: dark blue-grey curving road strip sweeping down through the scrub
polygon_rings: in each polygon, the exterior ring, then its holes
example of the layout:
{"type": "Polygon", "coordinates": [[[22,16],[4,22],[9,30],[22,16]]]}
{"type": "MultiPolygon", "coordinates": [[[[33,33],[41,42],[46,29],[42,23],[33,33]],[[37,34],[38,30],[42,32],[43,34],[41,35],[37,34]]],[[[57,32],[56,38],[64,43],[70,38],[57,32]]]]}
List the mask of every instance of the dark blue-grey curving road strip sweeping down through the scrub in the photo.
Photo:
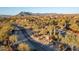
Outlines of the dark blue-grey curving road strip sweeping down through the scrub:
{"type": "Polygon", "coordinates": [[[27,29],[25,29],[21,26],[15,25],[15,24],[13,24],[13,26],[17,27],[22,32],[23,36],[26,38],[26,41],[28,41],[36,50],[38,50],[38,51],[55,51],[54,48],[41,44],[41,43],[35,41],[33,38],[31,38],[30,35],[28,35],[27,29]]]}

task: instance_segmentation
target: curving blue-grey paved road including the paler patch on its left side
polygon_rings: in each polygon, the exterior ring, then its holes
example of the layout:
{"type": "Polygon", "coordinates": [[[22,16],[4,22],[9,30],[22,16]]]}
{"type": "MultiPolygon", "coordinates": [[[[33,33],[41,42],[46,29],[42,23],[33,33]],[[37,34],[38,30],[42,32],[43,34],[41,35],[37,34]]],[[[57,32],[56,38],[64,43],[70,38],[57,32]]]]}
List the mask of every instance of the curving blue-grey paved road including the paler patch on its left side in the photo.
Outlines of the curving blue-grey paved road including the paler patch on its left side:
{"type": "MultiPolygon", "coordinates": [[[[20,35],[20,41],[25,41],[26,43],[30,44],[32,46],[32,48],[35,48],[38,51],[54,51],[54,48],[51,48],[47,45],[43,45],[35,40],[33,40],[33,38],[30,37],[30,35],[28,35],[28,30],[20,27],[18,25],[14,25],[17,29],[18,29],[18,35],[20,35]]],[[[19,41],[19,42],[20,42],[19,41]]]]}

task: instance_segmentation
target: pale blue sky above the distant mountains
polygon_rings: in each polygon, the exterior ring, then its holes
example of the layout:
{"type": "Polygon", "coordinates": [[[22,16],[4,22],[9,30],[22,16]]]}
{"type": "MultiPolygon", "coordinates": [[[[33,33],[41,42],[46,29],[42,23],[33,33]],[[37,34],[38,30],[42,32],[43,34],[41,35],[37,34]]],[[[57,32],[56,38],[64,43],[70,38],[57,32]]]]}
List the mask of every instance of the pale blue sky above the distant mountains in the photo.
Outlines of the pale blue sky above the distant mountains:
{"type": "Polygon", "coordinates": [[[79,13],[79,7],[0,7],[0,15],[16,15],[21,11],[33,13],[79,13]]]}

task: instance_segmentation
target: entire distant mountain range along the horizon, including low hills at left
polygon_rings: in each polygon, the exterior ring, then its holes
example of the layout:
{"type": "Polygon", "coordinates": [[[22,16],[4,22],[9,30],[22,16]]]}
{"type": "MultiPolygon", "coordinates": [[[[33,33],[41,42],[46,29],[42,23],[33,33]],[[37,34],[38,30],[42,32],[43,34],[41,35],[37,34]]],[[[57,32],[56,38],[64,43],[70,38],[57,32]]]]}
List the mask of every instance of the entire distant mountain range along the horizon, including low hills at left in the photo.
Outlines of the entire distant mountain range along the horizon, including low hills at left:
{"type": "Polygon", "coordinates": [[[31,15],[35,15],[35,16],[39,16],[39,15],[67,15],[67,16],[73,16],[73,15],[79,15],[79,14],[58,14],[58,13],[32,13],[32,12],[20,12],[17,15],[0,15],[0,17],[11,17],[11,16],[31,16],[31,15]]]}

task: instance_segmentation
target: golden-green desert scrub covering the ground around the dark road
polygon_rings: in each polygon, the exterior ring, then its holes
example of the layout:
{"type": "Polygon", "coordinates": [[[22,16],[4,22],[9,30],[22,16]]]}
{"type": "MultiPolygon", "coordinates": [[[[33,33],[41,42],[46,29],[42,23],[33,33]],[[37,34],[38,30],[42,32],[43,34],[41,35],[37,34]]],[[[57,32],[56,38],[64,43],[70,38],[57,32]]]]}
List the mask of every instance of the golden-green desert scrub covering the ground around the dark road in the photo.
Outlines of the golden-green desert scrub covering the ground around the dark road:
{"type": "Polygon", "coordinates": [[[71,50],[79,50],[79,15],[27,15],[0,18],[0,50],[32,50],[24,42],[19,43],[16,49],[11,47],[18,41],[18,36],[12,34],[12,30],[15,29],[12,24],[33,31],[30,36],[44,45],[60,42],[62,44],[57,46],[59,50],[64,50],[65,44],[71,50]]]}

